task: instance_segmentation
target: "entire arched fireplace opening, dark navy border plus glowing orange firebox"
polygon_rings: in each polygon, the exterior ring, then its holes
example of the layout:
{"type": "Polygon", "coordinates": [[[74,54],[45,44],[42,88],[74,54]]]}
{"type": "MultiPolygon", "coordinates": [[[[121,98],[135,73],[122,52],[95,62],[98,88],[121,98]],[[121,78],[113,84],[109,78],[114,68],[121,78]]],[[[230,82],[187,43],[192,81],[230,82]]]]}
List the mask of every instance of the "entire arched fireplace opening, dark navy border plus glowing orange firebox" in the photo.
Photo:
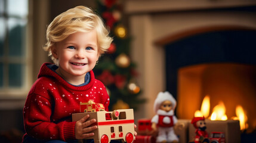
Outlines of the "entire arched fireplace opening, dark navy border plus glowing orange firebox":
{"type": "Polygon", "coordinates": [[[210,114],[223,102],[227,119],[241,105],[248,130],[256,129],[256,32],[205,32],[165,45],[166,90],[177,99],[177,117],[192,119],[206,95],[210,114]]]}

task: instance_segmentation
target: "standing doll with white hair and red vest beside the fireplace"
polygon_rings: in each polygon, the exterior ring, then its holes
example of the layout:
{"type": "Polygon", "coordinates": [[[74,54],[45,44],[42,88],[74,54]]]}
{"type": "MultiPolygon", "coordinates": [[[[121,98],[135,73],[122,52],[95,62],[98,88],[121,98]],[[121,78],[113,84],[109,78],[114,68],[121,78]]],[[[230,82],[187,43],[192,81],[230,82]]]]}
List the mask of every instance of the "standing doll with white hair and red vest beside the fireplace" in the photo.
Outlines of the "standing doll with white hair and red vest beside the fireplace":
{"type": "Polygon", "coordinates": [[[159,131],[156,142],[178,142],[178,137],[174,133],[174,125],[178,122],[174,115],[176,100],[166,92],[159,92],[154,102],[156,115],[152,118],[153,131],[159,131]]]}

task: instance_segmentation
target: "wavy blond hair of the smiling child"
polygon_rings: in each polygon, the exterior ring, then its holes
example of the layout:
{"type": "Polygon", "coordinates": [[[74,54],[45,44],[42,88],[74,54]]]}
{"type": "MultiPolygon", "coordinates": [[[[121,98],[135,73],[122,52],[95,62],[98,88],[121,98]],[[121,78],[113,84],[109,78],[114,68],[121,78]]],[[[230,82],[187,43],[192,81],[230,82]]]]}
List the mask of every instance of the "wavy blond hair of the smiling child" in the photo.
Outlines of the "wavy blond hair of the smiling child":
{"type": "Polygon", "coordinates": [[[97,33],[98,54],[101,55],[110,46],[113,38],[109,36],[109,30],[104,26],[103,20],[90,8],[78,6],[61,13],[50,23],[47,28],[47,43],[44,50],[48,51],[54,64],[58,65],[58,59],[54,58],[51,48],[57,42],[63,41],[69,35],[76,32],[90,32],[94,30],[97,33]]]}

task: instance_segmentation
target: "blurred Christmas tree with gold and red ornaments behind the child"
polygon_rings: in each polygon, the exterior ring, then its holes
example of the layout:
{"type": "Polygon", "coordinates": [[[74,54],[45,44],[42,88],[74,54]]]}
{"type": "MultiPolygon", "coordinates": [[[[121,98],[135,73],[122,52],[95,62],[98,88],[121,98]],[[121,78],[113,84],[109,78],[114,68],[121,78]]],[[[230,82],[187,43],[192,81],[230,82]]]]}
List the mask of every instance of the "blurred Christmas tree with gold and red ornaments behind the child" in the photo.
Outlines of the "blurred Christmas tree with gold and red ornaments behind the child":
{"type": "Polygon", "coordinates": [[[131,38],[122,17],[122,4],[116,0],[98,0],[97,11],[104,20],[113,42],[100,57],[94,72],[104,83],[110,96],[110,110],[136,108],[145,100],[139,98],[141,89],[136,82],[135,64],[129,58],[131,38]]]}

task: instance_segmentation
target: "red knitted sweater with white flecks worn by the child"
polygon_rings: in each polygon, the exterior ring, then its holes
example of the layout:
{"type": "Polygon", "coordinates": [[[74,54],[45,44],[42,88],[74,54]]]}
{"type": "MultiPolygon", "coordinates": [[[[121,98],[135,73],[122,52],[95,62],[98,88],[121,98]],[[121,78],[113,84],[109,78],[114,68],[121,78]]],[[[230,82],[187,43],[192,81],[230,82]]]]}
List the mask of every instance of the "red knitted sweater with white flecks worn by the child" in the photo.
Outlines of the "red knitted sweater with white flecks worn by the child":
{"type": "Polygon", "coordinates": [[[108,111],[109,95],[103,83],[90,71],[90,83],[73,86],[58,76],[44,63],[38,80],[33,84],[23,109],[26,135],[37,139],[75,139],[72,113],[78,113],[80,102],[101,103],[108,111]]]}

